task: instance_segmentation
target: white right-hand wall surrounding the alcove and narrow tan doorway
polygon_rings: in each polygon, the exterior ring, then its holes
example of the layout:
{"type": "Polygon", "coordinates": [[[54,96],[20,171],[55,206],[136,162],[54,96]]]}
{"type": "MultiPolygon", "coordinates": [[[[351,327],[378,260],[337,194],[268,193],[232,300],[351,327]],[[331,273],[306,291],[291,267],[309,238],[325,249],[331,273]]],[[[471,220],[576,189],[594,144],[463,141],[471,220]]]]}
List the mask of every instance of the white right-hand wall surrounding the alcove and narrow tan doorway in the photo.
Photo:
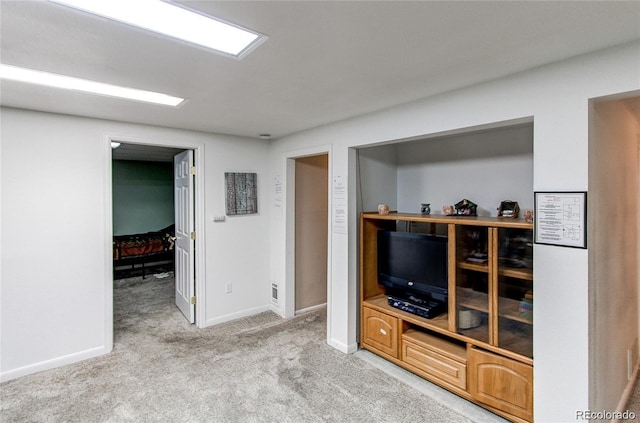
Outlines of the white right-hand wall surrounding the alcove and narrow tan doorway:
{"type": "MultiPolygon", "coordinates": [[[[283,157],[332,144],[332,172],[355,187],[352,147],[532,117],[533,189],[588,189],[588,100],[640,89],[640,43],[372,113],[272,142],[272,172],[286,175],[283,157]]],[[[285,190],[286,192],[286,190],[285,190]]],[[[348,234],[333,229],[329,343],[357,343],[357,216],[350,190],[348,234]]],[[[283,202],[286,203],[286,196],[283,202]]],[[[272,220],[271,278],[286,277],[286,218],[272,220]]],[[[596,229],[597,230],[597,229],[596,229]]],[[[589,408],[588,252],[536,245],[534,398],[537,421],[574,421],[589,408]]]]}

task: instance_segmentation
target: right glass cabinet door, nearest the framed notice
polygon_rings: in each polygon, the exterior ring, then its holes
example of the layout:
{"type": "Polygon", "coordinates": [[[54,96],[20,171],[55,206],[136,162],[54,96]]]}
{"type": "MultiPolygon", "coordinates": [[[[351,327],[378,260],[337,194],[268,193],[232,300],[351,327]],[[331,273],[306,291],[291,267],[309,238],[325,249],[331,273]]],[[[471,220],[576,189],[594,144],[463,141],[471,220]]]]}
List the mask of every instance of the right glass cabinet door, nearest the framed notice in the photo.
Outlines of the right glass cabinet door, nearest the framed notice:
{"type": "Polygon", "coordinates": [[[497,346],[533,357],[533,231],[497,230],[497,346]]]}

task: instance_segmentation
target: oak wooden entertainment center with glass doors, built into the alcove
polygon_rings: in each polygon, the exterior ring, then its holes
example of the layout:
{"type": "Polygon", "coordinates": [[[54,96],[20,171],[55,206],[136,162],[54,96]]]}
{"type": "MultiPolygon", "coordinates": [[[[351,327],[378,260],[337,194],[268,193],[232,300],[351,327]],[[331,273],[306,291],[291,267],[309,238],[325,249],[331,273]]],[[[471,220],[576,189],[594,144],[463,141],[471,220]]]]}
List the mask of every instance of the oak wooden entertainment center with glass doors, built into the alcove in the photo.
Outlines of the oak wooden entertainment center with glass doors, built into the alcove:
{"type": "Polygon", "coordinates": [[[362,213],[360,346],[514,422],[533,421],[533,224],[521,219],[362,213]],[[447,311],[388,304],[377,233],[447,237],[447,311]]]}

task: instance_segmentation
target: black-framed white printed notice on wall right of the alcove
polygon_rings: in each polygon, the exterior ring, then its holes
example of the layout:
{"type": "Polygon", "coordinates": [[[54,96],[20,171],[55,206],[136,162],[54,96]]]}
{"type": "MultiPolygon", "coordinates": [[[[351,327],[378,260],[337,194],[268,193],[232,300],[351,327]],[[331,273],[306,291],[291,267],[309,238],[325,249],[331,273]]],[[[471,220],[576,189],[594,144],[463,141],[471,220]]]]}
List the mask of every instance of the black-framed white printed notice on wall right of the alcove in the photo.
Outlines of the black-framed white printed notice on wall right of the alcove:
{"type": "Polygon", "coordinates": [[[535,192],[534,242],[587,248],[587,193],[535,192]]]}

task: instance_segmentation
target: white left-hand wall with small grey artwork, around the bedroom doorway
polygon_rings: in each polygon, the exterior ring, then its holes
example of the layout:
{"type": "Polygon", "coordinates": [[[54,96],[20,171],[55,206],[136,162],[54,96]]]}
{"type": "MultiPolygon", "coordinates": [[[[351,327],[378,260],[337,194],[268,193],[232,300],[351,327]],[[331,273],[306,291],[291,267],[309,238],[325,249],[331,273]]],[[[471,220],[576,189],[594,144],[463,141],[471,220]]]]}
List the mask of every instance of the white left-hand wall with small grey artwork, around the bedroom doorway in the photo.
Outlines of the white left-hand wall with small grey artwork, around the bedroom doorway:
{"type": "MultiPolygon", "coordinates": [[[[198,324],[268,309],[268,144],[17,109],[1,119],[1,378],[111,348],[111,154],[108,137],[197,148],[204,186],[198,324]],[[224,214],[224,172],[258,173],[259,213],[224,214]],[[264,184],[264,185],[262,185],[264,184]],[[262,185],[262,186],[261,186],[262,185]],[[251,265],[247,265],[251,263],[251,265]],[[202,278],[201,278],[202,279],[202,278]],[[233,293],[225,294],[226,283],[233,293]],[[202,292],[205,291],[205,292],[202,292]]],[[[198,187],[196,187],[198,188],[198,187]]]]}

